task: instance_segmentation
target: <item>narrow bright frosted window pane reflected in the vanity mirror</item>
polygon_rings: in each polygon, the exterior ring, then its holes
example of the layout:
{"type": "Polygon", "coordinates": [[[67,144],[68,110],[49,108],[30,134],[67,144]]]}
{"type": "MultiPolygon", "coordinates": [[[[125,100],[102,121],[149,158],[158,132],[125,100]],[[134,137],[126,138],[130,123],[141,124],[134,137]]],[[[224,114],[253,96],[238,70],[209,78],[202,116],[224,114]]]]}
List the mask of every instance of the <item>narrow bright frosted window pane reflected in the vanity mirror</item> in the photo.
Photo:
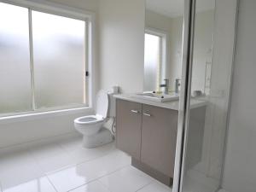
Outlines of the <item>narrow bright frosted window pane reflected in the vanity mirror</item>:
{"type": "Polygon", "coordinates": [[[145,34],[144,91],[158,90],[160,75],[160,37],[145,34]]]}

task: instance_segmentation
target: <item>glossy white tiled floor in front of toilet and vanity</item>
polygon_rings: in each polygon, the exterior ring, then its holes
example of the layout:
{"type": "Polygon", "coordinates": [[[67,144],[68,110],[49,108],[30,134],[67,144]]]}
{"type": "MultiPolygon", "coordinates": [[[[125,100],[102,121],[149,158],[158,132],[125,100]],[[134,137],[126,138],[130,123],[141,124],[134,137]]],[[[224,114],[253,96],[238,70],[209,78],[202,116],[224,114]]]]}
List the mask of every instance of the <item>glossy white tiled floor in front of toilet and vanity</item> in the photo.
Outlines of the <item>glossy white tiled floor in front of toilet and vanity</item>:
{"type": "Polygon", "coordinates": [[[171,192],[113,143],[85,149],[77,134],[0,149],[0,192],[171,192]]]}

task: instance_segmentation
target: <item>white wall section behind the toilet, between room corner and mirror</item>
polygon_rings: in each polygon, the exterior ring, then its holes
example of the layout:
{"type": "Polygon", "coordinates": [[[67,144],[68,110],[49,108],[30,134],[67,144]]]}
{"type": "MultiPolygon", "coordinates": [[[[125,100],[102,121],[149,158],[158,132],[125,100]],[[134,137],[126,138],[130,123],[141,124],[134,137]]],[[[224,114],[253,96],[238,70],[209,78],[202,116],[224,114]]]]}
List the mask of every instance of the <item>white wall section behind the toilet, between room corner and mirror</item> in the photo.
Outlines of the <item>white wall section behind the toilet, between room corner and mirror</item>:
{"type": "Polygon", "coordinates": [[[143,91],[143,0],[101,0],[99,6],[100,87],[143,91]]]}

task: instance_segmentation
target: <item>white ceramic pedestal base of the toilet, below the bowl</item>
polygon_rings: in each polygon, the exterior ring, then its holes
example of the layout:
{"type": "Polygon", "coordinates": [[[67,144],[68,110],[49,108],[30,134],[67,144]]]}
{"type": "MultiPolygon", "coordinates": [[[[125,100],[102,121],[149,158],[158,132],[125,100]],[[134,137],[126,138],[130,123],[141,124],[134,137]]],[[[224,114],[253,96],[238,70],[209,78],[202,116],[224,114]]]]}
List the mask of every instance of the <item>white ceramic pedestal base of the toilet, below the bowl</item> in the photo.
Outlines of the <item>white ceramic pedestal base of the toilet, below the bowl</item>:
{"type": "Polygon", "coordinates": [[[96,148],[98,146],[108,144],[113,142],[113,135],[112,133],[103,128],[93,136],[84,136],[83,137],[83,147],[84,148],[96,148]]]}

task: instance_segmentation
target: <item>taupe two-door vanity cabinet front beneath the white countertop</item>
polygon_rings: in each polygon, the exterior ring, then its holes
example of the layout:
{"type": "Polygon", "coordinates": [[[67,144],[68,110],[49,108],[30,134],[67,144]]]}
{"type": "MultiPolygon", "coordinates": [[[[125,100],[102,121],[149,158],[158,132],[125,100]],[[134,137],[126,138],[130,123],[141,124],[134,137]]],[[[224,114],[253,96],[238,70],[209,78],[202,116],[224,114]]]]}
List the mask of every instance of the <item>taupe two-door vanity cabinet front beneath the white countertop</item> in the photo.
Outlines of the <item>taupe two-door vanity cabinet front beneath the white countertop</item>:
{"type": "Polygon", "coordinates": [[[177,110],[117,99],[116,118],[116,146],[131,154],[132,165],[172,178],[177,110]]]}

